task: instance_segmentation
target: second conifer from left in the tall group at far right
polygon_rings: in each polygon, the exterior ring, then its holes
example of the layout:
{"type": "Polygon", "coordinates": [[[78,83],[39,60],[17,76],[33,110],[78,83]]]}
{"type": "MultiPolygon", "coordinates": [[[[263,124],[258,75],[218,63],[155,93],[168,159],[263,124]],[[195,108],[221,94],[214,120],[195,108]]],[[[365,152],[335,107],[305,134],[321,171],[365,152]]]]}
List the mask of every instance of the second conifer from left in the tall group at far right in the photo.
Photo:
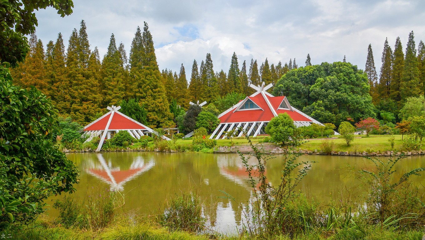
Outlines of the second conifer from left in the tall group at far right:
{"type": "Polygon", "coordinates": [[[392,50],[391,47],[388,45],[388,38],[385,39],[381,61],[382,65],[377,90],[379,94],[379,99],[385,99],[390,96],[392,81],[392,50]]]}

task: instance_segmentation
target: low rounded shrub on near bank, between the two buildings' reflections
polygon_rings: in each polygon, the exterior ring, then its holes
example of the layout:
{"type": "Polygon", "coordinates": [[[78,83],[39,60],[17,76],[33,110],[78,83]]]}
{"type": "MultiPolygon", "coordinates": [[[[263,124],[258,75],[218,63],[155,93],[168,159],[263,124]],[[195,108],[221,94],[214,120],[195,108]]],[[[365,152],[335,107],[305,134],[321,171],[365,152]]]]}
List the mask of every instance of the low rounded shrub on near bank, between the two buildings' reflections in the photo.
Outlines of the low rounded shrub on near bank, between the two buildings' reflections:
{"type": "Polygon", "coordinates": [[[206,218],[202,214],[199,197],[190,192],[176,196],[166,203],[164,213],[159,215],[158,222],[172,231],[183,230],[199,232],[204,229],[206,218]]]}

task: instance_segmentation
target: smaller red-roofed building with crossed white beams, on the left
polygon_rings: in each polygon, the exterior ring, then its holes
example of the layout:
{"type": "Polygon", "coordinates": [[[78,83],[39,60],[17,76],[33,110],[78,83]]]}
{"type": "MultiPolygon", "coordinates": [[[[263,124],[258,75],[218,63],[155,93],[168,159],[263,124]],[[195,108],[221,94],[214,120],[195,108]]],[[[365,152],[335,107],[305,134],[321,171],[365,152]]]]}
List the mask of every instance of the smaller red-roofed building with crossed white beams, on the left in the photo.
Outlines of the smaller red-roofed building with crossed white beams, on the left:
{"type": "MultiPolygon", "coordinates": [[[[111,139],[114,134],[119,131],[128,131],[130,135],[136,139],[140,139],[147,133],[156,134],[155,131],[142,123],[134,120],[131,117],[119,112],[120,106],[113,106],[107,108],[109,112],[102,117],[94,120],[83,128],[85,134],[89,135],[89,138],[85,142],[91,141],[94,137],[100,136],[100,142],[97,146],[96,152],[100,151],[105,139],[111,139]]],[[[170,140],[168,137],[162,136],[165,140],[170,140]]]]}

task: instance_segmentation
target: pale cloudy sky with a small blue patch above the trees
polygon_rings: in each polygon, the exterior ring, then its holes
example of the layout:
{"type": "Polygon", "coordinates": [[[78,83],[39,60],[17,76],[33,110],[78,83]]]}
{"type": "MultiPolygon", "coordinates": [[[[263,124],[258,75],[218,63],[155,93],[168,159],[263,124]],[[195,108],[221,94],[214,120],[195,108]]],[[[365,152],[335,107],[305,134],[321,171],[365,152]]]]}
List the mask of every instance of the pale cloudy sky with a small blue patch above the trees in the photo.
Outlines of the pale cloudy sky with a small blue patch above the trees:
{"type": "Polygon", "coordinates": [[[193,60],[211,53],[214,70],[228,71],[233,52],[239,66],[251,59],[283,64],[296,58],[304,66],[347,61],[364,69],[372,44],[379,74],[385,37],[391,49],[400,37],[405,49],[414,31],[416,46],[425,41],[424,0],[74,0],[74,13],[61,18],[54,9],[36,12],[37,36],[47,44],[62,33],[65,45],[85,20],[91,48],[106,53],[111,34],[127,54],[136,27],[147,22],[159,69],[179,71],[188,79],[193,60]]]}

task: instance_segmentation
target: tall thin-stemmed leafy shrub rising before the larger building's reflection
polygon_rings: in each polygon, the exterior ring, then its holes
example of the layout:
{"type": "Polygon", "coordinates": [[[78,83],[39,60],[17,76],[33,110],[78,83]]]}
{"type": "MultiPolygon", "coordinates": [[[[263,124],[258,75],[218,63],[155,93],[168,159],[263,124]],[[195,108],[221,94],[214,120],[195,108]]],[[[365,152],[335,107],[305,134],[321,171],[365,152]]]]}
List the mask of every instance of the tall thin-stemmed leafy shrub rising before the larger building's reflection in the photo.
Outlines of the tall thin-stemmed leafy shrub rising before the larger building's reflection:
{"type": "Polygon", "coordinates": [[[266,156],[263,148],[253,145],[249,136],[246,136],[246,139],[253,151],[249,155],[257,160],[256,163],[250,164],[251,157],[238,152],[246,168],[249,185],[253,190],[251,206],[245,212],[249,233],[251,235],[294,234],[296,229],[289,221],[292,217],[289,215],[293,213],[288,210],[290,203],[300,196],[295,188],[307,175],[313,162],[297,161],[300,154],[287,152],[282,163],[280,182],[272,186],[265,173],[267,162],[274,157],[266,156]]]}

